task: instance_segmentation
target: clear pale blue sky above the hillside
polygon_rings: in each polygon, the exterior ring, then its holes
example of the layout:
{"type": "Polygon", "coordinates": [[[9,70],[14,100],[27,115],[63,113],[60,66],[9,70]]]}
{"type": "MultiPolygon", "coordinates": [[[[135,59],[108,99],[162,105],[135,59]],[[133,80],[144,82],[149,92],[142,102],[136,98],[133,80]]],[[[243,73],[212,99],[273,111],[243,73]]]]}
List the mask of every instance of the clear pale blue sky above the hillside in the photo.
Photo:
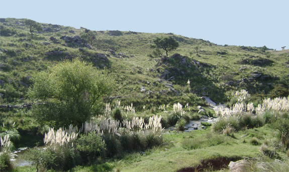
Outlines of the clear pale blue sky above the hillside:
{"type": "Polygon", "coordinates": [[[289,48],[289,0],[0,0],[0,18],[289,48]]]}

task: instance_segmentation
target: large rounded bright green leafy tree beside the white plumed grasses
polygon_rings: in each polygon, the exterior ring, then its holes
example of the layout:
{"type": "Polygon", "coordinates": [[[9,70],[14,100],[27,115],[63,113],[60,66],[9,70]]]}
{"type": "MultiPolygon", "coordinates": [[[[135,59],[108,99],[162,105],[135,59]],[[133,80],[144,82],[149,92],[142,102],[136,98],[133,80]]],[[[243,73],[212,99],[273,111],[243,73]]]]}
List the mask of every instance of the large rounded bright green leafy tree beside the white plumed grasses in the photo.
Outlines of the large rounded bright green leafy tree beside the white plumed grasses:
{"type": "Polygon", "coordinates": [[[55,127],[80,126],[99,113],[101,99],[111,92],[113,85],[108,74],[75,59],[40,72],[28,95],[42,102],[34,106],[40,123],[55,127]]]}

